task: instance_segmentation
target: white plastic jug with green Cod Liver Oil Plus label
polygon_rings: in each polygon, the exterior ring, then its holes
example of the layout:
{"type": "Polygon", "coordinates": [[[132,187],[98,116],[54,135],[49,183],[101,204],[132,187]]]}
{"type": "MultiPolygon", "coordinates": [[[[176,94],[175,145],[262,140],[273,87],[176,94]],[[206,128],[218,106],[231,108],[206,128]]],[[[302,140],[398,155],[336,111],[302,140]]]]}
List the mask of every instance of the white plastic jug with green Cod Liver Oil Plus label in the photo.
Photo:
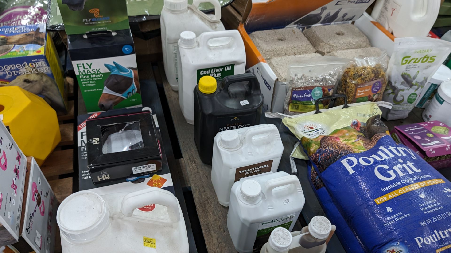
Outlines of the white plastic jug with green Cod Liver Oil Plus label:
{"type": "Polygon", "coordinates": [[[238,30],[182,32],[179,40],[179,102],[186,122],[194,124],[194,88],[203,76],[217,81],[243,74],[246,65],[244,43],[238,30]]]}

